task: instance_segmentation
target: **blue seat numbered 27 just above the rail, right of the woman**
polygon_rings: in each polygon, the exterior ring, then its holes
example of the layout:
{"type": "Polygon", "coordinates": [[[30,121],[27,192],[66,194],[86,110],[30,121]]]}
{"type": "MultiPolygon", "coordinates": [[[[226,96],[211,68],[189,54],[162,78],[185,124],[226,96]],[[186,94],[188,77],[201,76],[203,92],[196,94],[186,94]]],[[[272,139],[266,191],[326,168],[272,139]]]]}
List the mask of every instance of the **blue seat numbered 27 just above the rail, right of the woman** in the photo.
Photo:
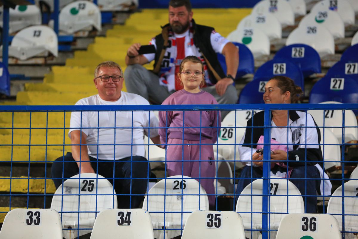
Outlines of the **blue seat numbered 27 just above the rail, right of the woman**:
{"type": "MultiPolygon", "coordinates": [[[[358,82],[344,74],[321,78],[312,87],[309,103],[318,104],[324,101],[357,104],[358,82]]],[[[357,115],[358,110],[354,113],[357,115]]]]}

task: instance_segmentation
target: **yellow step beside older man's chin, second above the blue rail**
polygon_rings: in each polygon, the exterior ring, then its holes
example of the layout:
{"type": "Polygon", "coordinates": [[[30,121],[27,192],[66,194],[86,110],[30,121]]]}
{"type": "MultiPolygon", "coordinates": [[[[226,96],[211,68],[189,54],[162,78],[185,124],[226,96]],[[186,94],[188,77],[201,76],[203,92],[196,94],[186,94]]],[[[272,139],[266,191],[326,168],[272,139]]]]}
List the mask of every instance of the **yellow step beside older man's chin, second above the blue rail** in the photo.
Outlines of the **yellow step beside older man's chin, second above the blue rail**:
{"type": "MultiPolygon", "coordinates": [[[[69,77],[69,76],[68,76],[69,77]]],[[[75,81],[76,76],[71,76],[69,80],[73,80],[71,86],[66,83],[26,83],[25,90],[26,91],[48,91],[48,92],[71,92],[71,93],[88,93],[95,95],[97,94],[97,89],[95,84],[93,83],[93,76],[91,78],[87,78],[86,84],[78,84],[75,81]]],[[[71,81],[69,81],[71,82],[71,81]]]]}

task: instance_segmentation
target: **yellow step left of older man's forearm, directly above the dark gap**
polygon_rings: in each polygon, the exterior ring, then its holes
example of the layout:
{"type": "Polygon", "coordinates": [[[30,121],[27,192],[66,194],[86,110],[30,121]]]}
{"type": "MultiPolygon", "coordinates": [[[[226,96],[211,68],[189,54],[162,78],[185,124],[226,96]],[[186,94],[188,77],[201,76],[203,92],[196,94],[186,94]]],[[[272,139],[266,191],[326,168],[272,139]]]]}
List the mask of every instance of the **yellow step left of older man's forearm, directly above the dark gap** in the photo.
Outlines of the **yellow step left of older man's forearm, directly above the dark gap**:
{"type": "Polygon", "coordinates": [[[71,152],[71,146],[65,146],[64,151],[63,146],[0,146],[0,161],[51,162],[67,152],[71,152]]]}

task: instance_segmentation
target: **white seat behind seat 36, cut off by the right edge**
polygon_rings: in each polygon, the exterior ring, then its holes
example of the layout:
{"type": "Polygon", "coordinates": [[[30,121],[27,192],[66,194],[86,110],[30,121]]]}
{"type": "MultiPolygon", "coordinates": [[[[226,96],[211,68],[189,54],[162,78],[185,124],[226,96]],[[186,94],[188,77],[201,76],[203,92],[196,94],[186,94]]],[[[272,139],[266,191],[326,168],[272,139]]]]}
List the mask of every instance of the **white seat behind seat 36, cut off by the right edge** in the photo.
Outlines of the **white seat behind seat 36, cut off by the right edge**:
{"type": "MultiPolygon", "coordinates": [[[[344,183],[344,231],[358,231],[358,198],[357,198],[358,181],[351,180],[344,183]]],[[[328,201],[327,213],[332,214],[339,223],[342,230],[342,185],[334,191],[328,201]]],[[[343,238],[343,237],[342,237],[343,238]]],[[[357,233],[345,233],[345,238],[357,238],[357,233]]]]}

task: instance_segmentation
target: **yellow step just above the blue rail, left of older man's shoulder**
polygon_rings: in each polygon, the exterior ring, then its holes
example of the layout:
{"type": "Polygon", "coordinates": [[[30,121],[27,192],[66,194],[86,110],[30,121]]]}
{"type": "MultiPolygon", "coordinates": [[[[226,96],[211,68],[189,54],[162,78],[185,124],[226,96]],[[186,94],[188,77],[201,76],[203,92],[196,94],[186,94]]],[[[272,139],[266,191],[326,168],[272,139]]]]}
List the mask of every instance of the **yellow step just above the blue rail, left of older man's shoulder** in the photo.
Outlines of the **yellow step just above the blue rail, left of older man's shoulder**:
{"type": "Polygon", "coordinates": [[[66,102],[68,105],[74,105],[79,99],[91,96],[89,93],[66,93],[66,92],[41,92],[41,91],[20,91],[16,95],[16,101],[37,103],[47,105],[47,102],[66,102]]]}

